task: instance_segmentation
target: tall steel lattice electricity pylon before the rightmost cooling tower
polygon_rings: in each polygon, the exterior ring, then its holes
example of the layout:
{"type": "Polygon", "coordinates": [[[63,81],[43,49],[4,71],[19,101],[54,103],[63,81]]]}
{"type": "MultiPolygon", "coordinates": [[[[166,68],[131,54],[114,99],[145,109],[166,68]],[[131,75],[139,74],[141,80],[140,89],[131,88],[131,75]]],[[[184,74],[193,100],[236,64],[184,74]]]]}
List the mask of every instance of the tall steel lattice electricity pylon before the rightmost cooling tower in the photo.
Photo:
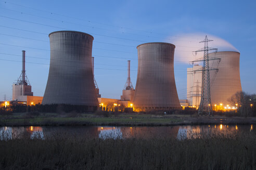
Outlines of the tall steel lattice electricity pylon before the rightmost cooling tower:
{"type": "MultiPolygon", "coordinates": [[[[210,70],[218,70],[217,68],[210,68],[209,67],[209,60],[219,60],[217,58],[209,59],[208,51],[210,50],[217,50],[216,48],[208,47],[208,42],[213,41],[206,37],[204,40],[200,41],[199,43],[204,43],[204,47],[200,50],[194,51],[200,52],[203,51],[203,59],[195,60],[194,62],[203,62],[202,69],[196,70],[197,72],[202,72],[202,90],[201,90],[201,101],[198,108],[198,115],[202,115],[203,112],[206,112],[209,116],[212,115],[212,104],[211,104],[211,89],[210,89],[210,70]],[[207,94],[205,94],[207,92],[207,94]],[[205,107],[207,103],[207,107],[205,107]]],[[[195,72],[195,71],[194,71],[195,72]]]]}

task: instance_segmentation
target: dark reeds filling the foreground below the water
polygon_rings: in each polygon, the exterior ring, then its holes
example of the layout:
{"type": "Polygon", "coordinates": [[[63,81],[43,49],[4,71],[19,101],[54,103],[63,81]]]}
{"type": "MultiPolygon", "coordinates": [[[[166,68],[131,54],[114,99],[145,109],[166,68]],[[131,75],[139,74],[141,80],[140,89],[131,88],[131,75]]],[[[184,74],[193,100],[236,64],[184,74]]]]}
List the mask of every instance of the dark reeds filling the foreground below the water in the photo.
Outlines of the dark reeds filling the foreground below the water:
{"type": "Polygon", "coordinates": [[[255,169],[256,136],[0,141],[0,169],[255,169]]]}

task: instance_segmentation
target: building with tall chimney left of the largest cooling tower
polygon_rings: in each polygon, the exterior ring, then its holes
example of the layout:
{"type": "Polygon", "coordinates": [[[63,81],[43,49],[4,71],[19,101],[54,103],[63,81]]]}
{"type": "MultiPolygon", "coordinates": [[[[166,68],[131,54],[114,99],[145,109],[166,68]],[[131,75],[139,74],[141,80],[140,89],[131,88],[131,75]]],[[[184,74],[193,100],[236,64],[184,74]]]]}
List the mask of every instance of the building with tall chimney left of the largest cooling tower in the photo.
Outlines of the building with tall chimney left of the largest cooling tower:
{"type": "Polygon", "coordinates": [[[12,84],[12,101],[27,105],[42,103],[43,97],[33,96],[32,87],[25,74],[25,51],[22,51],[22,71],[15,84],[12,84]]]}

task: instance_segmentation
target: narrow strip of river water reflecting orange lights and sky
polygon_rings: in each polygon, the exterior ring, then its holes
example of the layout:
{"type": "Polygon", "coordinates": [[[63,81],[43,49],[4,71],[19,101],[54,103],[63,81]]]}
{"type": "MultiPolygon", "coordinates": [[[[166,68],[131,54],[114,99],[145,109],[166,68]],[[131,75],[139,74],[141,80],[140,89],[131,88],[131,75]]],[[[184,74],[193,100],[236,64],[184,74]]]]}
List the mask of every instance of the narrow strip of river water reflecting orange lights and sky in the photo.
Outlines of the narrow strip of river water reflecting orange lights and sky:
{"type": "Polygon", "coordinates": [[[237,133],[255,133],[253,125],[185,125],[185,126],[21,126],[0,127],[0,140],[65,138],[176,138],[177,140],[233,137],[237,133]],[[239,127],[238,127],[239,126],[239,127]]]}

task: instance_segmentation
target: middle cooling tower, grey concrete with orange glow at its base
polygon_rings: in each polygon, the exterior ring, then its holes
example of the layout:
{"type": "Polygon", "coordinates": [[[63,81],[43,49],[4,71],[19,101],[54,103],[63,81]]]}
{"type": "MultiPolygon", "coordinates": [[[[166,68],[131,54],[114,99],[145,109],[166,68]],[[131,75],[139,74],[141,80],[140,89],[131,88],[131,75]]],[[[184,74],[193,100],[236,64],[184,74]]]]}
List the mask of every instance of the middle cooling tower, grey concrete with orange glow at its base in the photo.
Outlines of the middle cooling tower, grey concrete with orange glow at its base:
{"type": "Polygon", "coordinates": [[[180,108],[174,79],[174,49],[169,43],[139,45],[138,74],[134,94],[136,111],[180,108]]]}

